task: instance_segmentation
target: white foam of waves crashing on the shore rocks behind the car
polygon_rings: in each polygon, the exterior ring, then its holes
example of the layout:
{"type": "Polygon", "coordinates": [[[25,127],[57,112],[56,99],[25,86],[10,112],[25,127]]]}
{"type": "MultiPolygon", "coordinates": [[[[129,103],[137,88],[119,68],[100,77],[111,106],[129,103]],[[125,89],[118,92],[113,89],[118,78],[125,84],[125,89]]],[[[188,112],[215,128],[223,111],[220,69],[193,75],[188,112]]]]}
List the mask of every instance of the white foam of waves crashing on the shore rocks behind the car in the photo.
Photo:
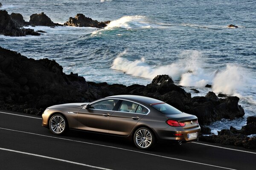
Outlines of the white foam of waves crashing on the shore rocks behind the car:
{"type": "Polygon", "coordinates": [[[182,59],[179,61],[158,67],[148,65],[143,57],[130,61],[125,58],[126,55],[127,51],[119,54],[111,68],[148,79],[153,79],[160,74],[168,74],[173,80],[180,81],[182,86],[204,87],[212,84],[212,91],[215,93],[240,97],[247,94],[250,89],[256,88],[255,82],[247,78],[248,71],[237,65],[227,64],[226,68],[221,70],[207,71],[204,67],[207,63],[199,51],[184,51],[180,54],[182,59]]]}

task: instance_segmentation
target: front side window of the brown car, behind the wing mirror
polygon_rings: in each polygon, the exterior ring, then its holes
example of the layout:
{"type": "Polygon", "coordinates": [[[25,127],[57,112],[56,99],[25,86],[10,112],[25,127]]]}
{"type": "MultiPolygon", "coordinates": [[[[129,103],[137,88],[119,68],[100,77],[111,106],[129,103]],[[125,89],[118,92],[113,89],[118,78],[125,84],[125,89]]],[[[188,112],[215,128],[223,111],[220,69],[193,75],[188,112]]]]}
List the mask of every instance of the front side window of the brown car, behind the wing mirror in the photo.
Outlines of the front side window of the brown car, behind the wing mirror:
{"type": "Polygon", "coordinates": [[[96,102],[90,105],[89,109],[112,111],[117,102],[118,102],[117,99],[101,100],[99,102],[96,102]]]}

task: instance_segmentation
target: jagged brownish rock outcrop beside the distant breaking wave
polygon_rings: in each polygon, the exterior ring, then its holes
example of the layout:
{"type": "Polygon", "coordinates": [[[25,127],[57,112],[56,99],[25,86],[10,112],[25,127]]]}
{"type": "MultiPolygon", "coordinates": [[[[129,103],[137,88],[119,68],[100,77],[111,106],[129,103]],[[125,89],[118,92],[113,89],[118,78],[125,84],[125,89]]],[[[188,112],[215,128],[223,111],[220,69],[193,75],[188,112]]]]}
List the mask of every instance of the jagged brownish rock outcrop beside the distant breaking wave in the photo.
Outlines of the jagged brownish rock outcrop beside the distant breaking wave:
{"type": "Polygon", "coordinates": [[[64,26],[76,26],[76,27],[96,27],[96,28],[104,28],[107,26],[106,22],[99,22],[97,20],[93,20],[89,17],[85,17],[84,14],[76,14],[76,16],[70,17],[69,20],[64,23],[64,26]]]}

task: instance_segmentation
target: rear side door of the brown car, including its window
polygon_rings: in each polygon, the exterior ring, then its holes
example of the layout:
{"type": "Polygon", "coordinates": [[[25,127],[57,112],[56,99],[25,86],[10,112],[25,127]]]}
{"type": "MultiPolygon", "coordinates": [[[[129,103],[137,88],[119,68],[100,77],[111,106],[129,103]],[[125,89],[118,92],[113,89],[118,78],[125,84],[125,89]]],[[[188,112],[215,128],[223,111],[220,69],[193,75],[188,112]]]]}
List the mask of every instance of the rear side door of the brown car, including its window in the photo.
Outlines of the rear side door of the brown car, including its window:
{"type": "Polygon", "coordinates": [[[109,120],[109,133],[128,136],[148,109],[134,102],[123,100],[109,120]]]}

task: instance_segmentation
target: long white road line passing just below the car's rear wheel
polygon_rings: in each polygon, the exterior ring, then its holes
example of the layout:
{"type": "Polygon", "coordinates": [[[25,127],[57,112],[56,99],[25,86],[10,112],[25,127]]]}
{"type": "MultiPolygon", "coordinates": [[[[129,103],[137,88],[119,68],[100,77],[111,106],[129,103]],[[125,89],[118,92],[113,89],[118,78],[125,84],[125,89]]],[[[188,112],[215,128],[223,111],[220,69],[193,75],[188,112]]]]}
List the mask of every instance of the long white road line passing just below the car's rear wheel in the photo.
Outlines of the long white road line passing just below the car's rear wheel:
{"type": "Polygon", "coordinates": [[[76,140],[72,140],[72,139],[59,138],[59,137],[55,137],[55,136],[47,136],[47,135],[41,135],[41,134],[37,134],[37,133],[24,132],[24,131],[20,131],[20,130],[6,129],[6,128],[2,128],[2,127],[0,127],[0,129],[10,130],[10,131],[15,131],[15,132],[21,132],[21,133],[27,133],[27,134],[37,135],[37,136],[44,136],[44,137],[55,138],[55,139],[62,139],[62,140],[72,141],[72,142],[92,144],[92,145],[102,146],[102,147],[110,147],[110,148],[115,148],[115,149],[120,149],[120,150],[126,150],[126,151],[131,151],[131,152],[136,152],[136,153],[142,153],[142,154],[145,154],[145,155],[162,157],[162,158],[166,158],[166,159],[174,159],[174,160],[185,161],[185,162],[190,162],[190,163],[194,163],[194,164],[202,164],[202,165],[207,165],[207,166],[211,166],[211,167],[218,167],[218,168],[223,168],[223,169],[227,169],[227,170],[236,170],[236,169],[227,168],[227,167],[220,167],[220,166],[216,166],[216,165],[204,164],[204,163],[195,162],[195,161],[188,161],[188,160],[184,160],[184,159],[177,159],[177,158],[172,158],[172,157],[167,157],[167,156],[156,155],[156,154],[153,154],[153,153],[145,153],[145,152],[141,152],[141,151],[137,151],[137,150],[129,150],[129,149],[121,148],[121,147],[108,146],[108,145],[104,145],[104,144],[94,144],[94,143],[89,143],[89,142],[76,141],[76,140]]]}

